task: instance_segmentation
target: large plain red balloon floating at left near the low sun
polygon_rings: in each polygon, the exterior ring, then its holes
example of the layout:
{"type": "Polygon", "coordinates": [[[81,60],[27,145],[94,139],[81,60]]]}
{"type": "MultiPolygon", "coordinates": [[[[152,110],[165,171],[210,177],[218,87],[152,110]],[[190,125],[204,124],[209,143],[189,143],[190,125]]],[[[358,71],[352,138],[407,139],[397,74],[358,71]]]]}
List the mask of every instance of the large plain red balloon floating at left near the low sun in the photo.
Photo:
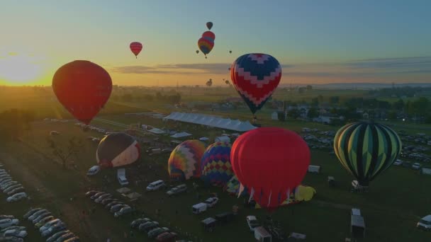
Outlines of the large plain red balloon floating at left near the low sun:
{"type": "Polygon", "coordinates": [[[52,89],[77,120],[88,125],[111,96],[111,76],[89,61],[69,62],[55,71],[52,89]]]}

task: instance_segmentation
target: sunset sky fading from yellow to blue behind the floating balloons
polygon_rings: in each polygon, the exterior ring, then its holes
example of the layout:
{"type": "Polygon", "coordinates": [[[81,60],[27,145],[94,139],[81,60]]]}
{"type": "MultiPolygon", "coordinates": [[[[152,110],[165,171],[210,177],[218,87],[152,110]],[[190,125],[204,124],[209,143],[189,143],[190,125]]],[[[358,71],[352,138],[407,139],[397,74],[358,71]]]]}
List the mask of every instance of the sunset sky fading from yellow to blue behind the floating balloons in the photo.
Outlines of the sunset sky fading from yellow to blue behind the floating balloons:
{"type": "Polygon", "coordinates": [[[430,9],[426,0],[1,0],[0,85],[50,85],[63,64],[86,59],[117,85],[217,86],[251,52],[279,60],[281,83],[430,83],[430,9]],[[196,50],[208,21],[215,46],[205,59],[196,50]]]}

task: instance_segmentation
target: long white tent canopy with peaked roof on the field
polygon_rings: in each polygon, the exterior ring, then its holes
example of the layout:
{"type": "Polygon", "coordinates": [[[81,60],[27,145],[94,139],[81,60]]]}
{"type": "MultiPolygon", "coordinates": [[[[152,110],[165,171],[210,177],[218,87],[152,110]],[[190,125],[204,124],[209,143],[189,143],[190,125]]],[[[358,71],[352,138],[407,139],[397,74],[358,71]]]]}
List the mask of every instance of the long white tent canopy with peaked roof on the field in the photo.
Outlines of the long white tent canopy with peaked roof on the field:
{"type": "Polygon", "coordinates": [[[215,117],[199,113],[171,113],[163,118],[163,120],[176,120],[181,122],[191,122],[196,125],[206,125],[209,127],[218,127],[220,129],[235,130],[238,132],[246,132],[251,129],[256,129],[248,121],[230,120],[229,118],[215,117]]]}

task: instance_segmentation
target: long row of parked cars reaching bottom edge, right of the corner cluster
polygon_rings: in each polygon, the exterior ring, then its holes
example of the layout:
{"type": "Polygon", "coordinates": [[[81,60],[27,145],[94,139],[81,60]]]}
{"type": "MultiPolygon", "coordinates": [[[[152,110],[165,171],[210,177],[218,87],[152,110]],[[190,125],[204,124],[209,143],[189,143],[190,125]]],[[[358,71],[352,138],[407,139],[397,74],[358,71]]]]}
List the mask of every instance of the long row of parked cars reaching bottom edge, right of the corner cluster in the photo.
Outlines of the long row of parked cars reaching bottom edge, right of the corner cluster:
{"type": "Polygon", "coordinates": [[[31,221],[47,242],[77,242],[79,237],[67,229],[61,219],[56,219],[50,211],[43,208],[30,209],[24,219],[31,221]]]}

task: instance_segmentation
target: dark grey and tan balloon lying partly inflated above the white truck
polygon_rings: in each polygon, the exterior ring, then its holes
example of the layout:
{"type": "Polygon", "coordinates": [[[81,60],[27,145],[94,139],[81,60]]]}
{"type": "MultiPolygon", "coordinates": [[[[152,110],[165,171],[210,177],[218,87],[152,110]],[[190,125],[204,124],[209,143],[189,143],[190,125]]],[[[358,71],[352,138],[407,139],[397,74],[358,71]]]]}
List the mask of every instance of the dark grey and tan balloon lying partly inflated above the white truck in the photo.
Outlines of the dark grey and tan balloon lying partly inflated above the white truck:
{"type": "Polygon", "coordinates": [[[96,161],[102,168],[125,166],[139,158],[139,143],[123,132],[108,134],[100,141],[96,151],[96,161]]]}

